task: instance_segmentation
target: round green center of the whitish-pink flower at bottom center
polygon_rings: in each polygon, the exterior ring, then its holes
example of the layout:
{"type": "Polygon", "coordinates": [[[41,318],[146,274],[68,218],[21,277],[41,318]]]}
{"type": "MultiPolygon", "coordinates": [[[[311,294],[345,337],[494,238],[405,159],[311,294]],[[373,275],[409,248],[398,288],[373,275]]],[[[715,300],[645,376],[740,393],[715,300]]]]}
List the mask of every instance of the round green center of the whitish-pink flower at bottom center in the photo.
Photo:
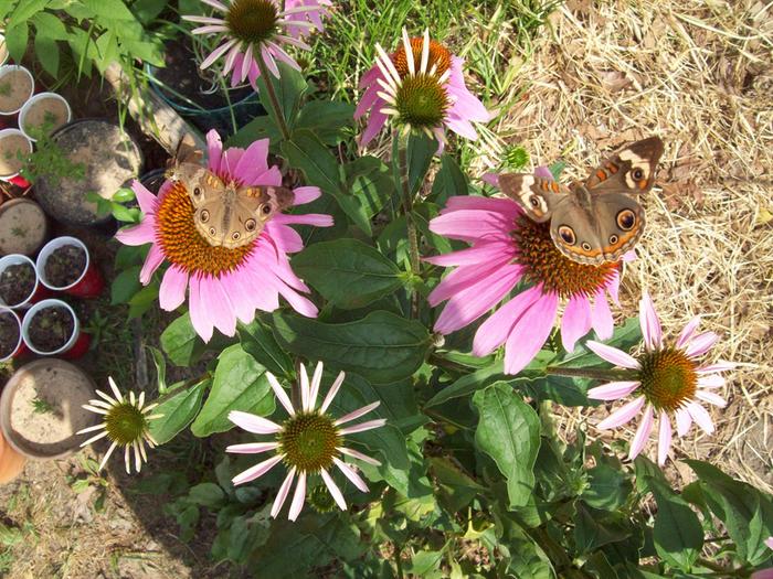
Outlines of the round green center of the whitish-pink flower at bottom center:
{"type": "Polygon", "coordinates": [[[279,432],[285,462],[303,472],[319,472],[332,464],[341,436],[332,418],[318,412],[289,417],[279,432]]]}

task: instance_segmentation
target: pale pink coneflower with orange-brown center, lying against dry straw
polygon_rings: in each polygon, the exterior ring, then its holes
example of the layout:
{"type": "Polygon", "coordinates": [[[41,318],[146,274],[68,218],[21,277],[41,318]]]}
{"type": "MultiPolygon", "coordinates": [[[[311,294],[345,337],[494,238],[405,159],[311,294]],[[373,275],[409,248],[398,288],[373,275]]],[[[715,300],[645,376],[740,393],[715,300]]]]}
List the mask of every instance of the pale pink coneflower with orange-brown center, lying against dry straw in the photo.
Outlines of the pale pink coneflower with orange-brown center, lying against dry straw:
{"type": "Polygon", "coordinates": [[[586,342],[600,357],[616,366],[636,371],[631,380],[613,382],[591,388],[589,398],[617,400],[638,390],[638,396],[599,422],[600,429],[615,428],[628,422],[644,409],[628,458],[635,459],[649,438],[655,418],[659,419],[658,463],[664,464],[671,446],[671,416],[676,419],[677,433],[684,437],[695,420],[708,435],[714,430],[709,412],[700,401],[724,408],[727,403],[712,390],[724,385],[720,372],[732,369],[734,364],[720,362],[700,365],[696,358],[706,354],[719,336],[713,332],[696,334],[700,319],[693,318],[681,331],[674,346],[665,346],[660,320],[647,293],[639,302],[639,322],[645,351],[638,357],[615,347],[586,342]]]}

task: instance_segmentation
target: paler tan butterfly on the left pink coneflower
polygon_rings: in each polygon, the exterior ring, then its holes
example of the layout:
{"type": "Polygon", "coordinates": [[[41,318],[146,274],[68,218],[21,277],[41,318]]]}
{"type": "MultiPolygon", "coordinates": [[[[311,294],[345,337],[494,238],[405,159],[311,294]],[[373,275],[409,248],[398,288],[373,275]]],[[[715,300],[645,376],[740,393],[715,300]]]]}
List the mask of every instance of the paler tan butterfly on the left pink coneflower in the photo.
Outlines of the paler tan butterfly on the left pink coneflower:
{"type": "Polygon", "coordinates": [[[198,159],[201,157],[178,147],[167,178],[184,185],[193,204],[193,224],[212,246],[235,249],[247,245],[261,235],[268,219],[295,202],[290,189],[225,182],[193,162],[198,159]]]}

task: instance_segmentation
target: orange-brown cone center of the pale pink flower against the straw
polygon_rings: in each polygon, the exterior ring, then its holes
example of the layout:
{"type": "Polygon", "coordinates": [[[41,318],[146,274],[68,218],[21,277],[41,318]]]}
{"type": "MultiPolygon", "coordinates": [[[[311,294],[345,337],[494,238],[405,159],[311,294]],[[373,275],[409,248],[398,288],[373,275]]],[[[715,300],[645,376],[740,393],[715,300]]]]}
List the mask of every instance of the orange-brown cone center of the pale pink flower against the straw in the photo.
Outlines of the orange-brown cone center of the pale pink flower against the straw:
{"type": "Polygon", "coordinates": [[[638,362],[642,392],[656,409],[674,411],[695,396],[695,364],[680,350],[646,352],[638,362]]]}

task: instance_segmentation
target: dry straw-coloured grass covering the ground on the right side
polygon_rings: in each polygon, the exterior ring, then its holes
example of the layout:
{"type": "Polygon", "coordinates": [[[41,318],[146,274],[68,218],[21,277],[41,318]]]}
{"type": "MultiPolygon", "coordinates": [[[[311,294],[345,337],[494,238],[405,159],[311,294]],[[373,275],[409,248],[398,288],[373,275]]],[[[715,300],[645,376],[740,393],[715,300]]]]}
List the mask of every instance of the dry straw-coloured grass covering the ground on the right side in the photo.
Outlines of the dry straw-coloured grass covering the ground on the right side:
{"type": "MultiPolygon", "coordinates": [[[[621,313],[635,315],[647,289],[667,333],[700,313],[723,335],[712,354],[742,363],[723,393],[730,404],[713,412],[718,432],[692,430],[676,458],[709,459],[771,491],[771,4],[572,0],[551,29],[521,68],[511,92],[526,90],[498,132],[534,160],[565,159],[568,179],[625,141],[664,138],[621,313]]],[[[565,410],[562,427],[572,431],[583,419],[565,410]]]]}

